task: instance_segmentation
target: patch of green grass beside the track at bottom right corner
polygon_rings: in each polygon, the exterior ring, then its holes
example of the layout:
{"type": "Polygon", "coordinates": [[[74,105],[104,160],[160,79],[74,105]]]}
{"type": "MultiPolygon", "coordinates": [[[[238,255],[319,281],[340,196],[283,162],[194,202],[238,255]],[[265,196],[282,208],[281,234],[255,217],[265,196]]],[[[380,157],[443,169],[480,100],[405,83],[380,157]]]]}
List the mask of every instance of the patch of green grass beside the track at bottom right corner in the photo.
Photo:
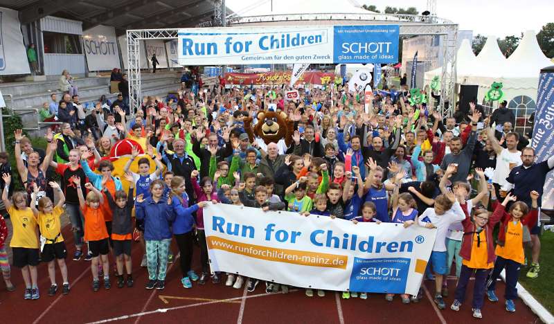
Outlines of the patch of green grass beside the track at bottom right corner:
{"type": "MultiPolygon", "coordinates": [[[[530,249],[526,255],[530,264],[530,249]]],[[[527,268],[522,268],[519,283],[525,287],[548,312],[554,314],[554,232],[544,231],[541,236],[541,256],[539,259],[541,271],[538,278],[526,277],[527,268]]]]}

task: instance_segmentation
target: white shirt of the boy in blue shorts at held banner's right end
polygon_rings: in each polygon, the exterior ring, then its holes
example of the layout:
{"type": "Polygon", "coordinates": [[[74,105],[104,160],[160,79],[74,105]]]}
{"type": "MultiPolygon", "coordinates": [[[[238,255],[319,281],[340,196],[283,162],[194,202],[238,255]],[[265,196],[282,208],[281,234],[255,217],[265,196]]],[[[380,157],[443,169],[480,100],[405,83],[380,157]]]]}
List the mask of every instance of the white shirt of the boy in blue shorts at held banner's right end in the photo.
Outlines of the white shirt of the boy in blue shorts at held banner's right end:
{"type": "Polygon", "coordinates": [[[421,226],[429,223],[429,221],[436,226],[437,236],[433,251],[446,252],[446,234],[451,224],[455,222],[461,222],[465,219],[465,214],[460,206],[460,203],[456,201],[452,208],[447,210],[443,215],[436,215],[435,208],[427,208],[419,217],[418,222],[421,226]]]}

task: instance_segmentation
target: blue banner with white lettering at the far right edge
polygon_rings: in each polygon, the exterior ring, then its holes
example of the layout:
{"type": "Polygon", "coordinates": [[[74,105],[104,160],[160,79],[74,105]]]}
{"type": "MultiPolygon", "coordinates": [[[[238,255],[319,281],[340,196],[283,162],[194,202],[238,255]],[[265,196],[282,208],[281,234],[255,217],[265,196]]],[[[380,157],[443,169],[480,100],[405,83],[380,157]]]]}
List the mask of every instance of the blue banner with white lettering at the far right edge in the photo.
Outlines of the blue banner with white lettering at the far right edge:
{"type": "MultiPolygon", "coordinates": [[[[539,77],[531,145],[535,149],[537,163],[554,155],[554,66],[543,69],[539,77]]],[[[554,172],[552,171],[546,175],[544,182],[542,208],[554,209],[554,172]]]]}

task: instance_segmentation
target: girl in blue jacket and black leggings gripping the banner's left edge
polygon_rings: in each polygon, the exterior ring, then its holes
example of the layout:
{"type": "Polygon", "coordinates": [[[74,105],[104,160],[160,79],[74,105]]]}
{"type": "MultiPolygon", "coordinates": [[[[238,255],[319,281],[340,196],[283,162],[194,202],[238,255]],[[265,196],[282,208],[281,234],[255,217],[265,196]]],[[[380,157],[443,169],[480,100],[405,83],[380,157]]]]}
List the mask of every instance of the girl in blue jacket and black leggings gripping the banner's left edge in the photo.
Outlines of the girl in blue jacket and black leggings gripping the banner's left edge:
{"type": "Polygon", "coordinates": [[[185,191],[185,179],[183,177],[173,177],[171,179],[171,204],[175,211],[175,221],[173,222],[173,235],[181,251],[179,264],[181,266],[181,284],[185,288],[192,288],[193,283],[190,280],[198,280],[198,275],[190,269],[190,262],[193,260],[193,244],[194,244],[194,226],[195,219],[193,213],[198,208],[204,208],[208,205],[208,201],[201,201],[193,206],[188,206],[188,195],[185,191]]]}

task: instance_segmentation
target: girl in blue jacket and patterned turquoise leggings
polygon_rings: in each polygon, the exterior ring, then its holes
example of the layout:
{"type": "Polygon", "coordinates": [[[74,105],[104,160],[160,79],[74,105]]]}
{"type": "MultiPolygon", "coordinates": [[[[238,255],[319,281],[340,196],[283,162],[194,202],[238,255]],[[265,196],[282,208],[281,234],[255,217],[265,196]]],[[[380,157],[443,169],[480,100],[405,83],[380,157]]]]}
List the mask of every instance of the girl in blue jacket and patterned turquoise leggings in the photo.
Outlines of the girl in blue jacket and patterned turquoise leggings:
{"type": "Polygon", "coordinates": [[[170,226],[175,213],[171,199],[163,197],[163,181],[152,181],[150,192],[152,196],[146,199],[143,195],[136,196],[135,214],[136,219],[144,220],[149,279],[146,289],[163,289],[166,287],[168,250],[171,243],[170,226]]]}

